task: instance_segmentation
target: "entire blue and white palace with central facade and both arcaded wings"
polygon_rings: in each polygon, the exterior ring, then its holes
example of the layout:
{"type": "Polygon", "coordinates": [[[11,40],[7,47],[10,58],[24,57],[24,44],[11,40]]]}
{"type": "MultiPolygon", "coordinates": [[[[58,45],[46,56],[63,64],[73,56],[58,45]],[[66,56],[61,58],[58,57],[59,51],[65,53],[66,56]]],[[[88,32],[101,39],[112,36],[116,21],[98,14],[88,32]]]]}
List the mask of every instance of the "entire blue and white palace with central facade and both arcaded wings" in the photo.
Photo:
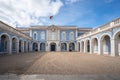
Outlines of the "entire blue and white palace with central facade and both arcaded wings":
{"type": "Polygon", "coordinates": [[[0,54],[35,51],[120,55],[120,18],[95,29],[56,25],[13,28],[0,21],[0,54]]]}

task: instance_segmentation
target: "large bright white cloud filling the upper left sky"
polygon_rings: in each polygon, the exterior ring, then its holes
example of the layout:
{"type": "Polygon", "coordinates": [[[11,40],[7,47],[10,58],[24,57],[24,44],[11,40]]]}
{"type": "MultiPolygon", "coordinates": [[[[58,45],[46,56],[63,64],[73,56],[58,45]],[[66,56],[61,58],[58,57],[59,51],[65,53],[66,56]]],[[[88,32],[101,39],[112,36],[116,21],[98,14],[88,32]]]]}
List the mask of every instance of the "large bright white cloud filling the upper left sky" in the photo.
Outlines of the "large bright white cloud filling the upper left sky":
{"type": "Polygon", "coordinates": [[[43,24],[41,17],[56,15],[61,6],[60,0],[0,0],[0,20],[20,26],[43,24]]]}

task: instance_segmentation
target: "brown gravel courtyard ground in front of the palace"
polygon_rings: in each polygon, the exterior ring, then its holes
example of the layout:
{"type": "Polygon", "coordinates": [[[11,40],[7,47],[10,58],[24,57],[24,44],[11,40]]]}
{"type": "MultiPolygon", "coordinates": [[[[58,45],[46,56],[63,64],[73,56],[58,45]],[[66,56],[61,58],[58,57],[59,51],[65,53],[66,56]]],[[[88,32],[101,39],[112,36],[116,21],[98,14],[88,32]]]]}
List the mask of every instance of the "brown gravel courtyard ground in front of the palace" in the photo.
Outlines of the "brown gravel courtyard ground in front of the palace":
{"type": "MultiPolygon", "coordinates": [[[[7,78],[8,74],[17,74],[9,78],[41,76],[44,78],[40,77],[42,80],[52,80],[52,78],[58,78],[57,80],[68,80],[69,78],[71,78],[69,80],[79,80],[80,78],[82,80],[98,80],[98,78],[120,80],[118,76],[120,75],[120,57],[78,52],[22,53],[0,56],[0,74],[0,79],[7,78]],[[51,78],[47,79],[50,76],[51,78]]],[[[36,77],[34,79],[36,80],[36,77]]]]}

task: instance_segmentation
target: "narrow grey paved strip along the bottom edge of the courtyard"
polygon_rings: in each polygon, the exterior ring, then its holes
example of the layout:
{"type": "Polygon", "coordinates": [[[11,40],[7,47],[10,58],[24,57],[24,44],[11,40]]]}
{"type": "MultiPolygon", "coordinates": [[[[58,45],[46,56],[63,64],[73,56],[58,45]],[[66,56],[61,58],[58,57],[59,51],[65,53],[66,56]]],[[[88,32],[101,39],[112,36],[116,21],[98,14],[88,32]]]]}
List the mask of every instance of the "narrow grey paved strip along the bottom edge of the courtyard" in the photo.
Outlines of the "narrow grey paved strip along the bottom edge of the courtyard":
{"type": "Polygon", "coordinates": [[[0,80],[120,80],[119,75],[0,75],[0,80]]]}

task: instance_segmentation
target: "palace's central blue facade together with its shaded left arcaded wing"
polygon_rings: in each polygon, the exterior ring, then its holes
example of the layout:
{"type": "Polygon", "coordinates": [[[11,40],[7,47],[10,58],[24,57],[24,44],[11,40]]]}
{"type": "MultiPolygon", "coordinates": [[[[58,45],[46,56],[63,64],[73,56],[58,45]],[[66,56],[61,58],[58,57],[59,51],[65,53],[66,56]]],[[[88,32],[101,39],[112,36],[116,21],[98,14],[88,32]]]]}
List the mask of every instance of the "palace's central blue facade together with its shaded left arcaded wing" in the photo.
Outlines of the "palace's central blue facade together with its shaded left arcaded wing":
{"type": "Polygon", "coordinates": [[[0,22],[0,53],[77,51],[77,37],[90,30],[56,25],[12,28],[0,22]]]}

